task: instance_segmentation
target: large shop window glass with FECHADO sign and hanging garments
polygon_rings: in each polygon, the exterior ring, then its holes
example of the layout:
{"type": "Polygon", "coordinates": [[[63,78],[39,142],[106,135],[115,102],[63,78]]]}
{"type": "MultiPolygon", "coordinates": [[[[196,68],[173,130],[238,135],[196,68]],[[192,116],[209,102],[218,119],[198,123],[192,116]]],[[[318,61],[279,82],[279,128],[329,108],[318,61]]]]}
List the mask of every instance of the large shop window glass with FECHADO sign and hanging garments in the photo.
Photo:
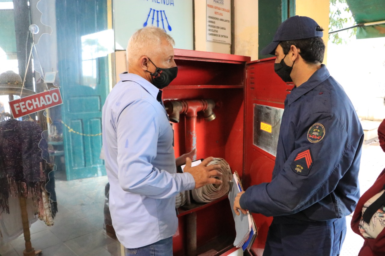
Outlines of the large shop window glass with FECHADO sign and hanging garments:
{"type": "Polygon", "coordinates": [[[28,249],[24,216],[44,255],[120,256],[99,158],[114,73],[112,1],[0,0],[0,32],[0,254],[28,249]],[[61,105],[39,96],[50,89],[61,105]],[[26,96],[39,104],[19,105],[31,113],[13,118],[9,101],[26,96]]]}

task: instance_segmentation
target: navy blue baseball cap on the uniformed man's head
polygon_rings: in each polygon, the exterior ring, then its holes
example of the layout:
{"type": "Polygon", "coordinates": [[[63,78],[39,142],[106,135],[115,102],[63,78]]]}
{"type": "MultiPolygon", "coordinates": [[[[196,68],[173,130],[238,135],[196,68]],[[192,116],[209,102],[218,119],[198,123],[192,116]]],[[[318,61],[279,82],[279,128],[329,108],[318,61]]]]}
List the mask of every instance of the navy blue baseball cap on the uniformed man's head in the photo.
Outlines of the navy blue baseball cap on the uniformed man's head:
{"type": "Polygon", "coordinates": [[[323,32],[317,31],[319,25],[312,18],[306,16],[293,16],[285,20],[275,32],[273,42],[269,43],[263,50],[262,55],[273,54],[275,48],[281,41],[298,40],[311,37],[322,37],[323,32]]]}

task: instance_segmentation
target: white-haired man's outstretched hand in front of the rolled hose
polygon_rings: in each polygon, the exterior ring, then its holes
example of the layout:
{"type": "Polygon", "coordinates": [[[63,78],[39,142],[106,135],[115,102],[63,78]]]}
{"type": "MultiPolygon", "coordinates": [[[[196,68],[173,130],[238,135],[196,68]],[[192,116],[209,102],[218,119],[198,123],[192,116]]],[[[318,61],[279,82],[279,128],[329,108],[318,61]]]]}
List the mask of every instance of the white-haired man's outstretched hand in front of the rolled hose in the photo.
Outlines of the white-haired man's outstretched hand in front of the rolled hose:
{"type": "Polygon", "coordinates": [[[197,166],[191,167],[191,159],[186,158],[186,166],[183,169],[184,173],[190,173],[195,180],[195,188],[200,188],[207,184],[221,184],[222,181],[214,177],[221,177],[222,173],[217,169],[221,165],[208,165],[214,158],[212,156],[206,158],[197,166]]]}

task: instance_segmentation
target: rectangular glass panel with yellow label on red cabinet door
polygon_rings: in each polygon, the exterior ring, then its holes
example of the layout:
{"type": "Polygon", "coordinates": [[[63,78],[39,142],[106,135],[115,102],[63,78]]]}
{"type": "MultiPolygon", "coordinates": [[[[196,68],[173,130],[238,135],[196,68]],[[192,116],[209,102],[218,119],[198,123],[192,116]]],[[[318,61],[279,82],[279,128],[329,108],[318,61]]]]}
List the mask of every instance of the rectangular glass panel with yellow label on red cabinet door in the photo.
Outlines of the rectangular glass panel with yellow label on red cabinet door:
{"type": "Polygon", "coordinates": [[[254,104],[253,144],[270,153],[277,154],[283,109],[254,104]]]}

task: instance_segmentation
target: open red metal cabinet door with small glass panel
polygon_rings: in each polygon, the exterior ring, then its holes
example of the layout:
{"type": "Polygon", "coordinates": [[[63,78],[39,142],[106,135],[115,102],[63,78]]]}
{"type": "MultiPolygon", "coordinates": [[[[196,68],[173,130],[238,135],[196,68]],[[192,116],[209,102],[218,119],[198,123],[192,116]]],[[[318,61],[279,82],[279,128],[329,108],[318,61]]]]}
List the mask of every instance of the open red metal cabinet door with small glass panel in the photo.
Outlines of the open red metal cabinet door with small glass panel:
{"type": "MultiPolygon", "coordinates": [[[[276,146],[288,85],[274,72],[275,57],[246,63],[244,173],[243,185],[248,188],[271,181],[276,146]]],[[[258,236],[252,251],[262,255],[268,228],[273,220],[253,214],[258,236]]]]}

